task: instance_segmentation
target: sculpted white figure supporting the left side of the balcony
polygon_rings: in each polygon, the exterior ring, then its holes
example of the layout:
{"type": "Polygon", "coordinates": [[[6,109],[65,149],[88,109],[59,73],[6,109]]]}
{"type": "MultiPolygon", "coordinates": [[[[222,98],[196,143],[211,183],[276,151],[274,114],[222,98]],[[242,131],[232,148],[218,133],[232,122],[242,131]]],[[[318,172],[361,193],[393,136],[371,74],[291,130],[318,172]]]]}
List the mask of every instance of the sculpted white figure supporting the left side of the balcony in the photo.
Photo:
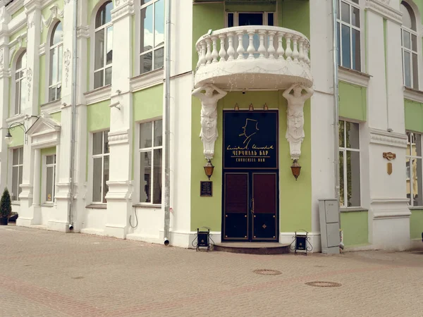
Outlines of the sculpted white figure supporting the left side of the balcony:
{"type": "Polygon", "coordinates": [[[194,89],[192,96],[201,100],[201,132],[200,137],[203,142],[204,157],[209,160],[214,156],[214,142],[218,137],[217,133],[217,101],[225,97],[227,92],[207,85],[194,89]],[[202,91],[205,91],[202,93],[202,91]]]}

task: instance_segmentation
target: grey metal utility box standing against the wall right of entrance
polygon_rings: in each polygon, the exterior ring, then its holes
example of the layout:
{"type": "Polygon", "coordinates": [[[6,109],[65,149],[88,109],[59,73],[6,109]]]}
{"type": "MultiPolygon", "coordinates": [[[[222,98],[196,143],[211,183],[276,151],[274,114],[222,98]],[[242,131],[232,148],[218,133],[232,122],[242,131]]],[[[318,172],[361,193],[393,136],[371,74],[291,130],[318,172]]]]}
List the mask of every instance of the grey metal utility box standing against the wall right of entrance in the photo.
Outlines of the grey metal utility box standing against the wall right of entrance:
{"type": "Polygon", "coordinates": [[[338,199],[319,199],[321,253],[339,254],[338,199]]]}

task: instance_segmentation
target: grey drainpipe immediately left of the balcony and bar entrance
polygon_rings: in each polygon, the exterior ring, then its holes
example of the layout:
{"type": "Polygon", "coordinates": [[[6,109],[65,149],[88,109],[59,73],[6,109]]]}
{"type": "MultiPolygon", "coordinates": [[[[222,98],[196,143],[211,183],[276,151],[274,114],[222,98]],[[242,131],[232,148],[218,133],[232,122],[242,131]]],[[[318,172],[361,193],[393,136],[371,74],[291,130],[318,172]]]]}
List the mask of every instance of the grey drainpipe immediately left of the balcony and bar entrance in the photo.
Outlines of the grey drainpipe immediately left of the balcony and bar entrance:
{"type": "Polygon", "coordinates": [[[164,108],[164,245],[169,245],[171,223],[171,8],[172,0],[167,0],[166,12],[166,66],[165,66],[165,108],[164,108]]]}

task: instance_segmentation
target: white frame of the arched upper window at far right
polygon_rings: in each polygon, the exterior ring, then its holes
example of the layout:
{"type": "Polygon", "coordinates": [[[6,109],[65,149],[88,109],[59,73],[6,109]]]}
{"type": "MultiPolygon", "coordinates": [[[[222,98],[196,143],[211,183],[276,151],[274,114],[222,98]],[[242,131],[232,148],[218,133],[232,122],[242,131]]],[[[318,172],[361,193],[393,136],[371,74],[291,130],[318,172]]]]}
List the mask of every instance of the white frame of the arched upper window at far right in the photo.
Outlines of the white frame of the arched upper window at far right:
{"type": "MultiPolygon", "coordinates": [[[[415,22],[416,29],[417,29],[417,27],[418,27],[418,25],[420,25],[420,23],[419,23],[419,21],[417,21],[417,15],[416,15],[414,9],[412,8],[412,6],[410,6],[410,4],[407,1],[400,1],[400,5],[403,4],[403,2],[405,2],[405,4],[406,4],[405,8],[407,8],[407,6],[408,6],[410,8],[410,10],[412,11],[414,17],[411,16],[411,18],[415,19],[414,22],[415,22]]],[[[407,8],[407,10],[408,10],[408,8],[407,8]]],[[[402,65],[403,65],[403,85],[405,87],[418,90],[419,89],[419,34],[418,34],[417,30],[412,30],[408,27],[405,27],[404,25],[401,25],[401,56],[402,56],[402,65]],[[405,47],[403,45],[404,44],[403,43],[403,41],[404,41],[403,31],[410,33],[410,49],[408,49],[407,47],[405,47]],[[412,36],[413,35],[416,37],[417,51],[413,51],[413,49],[412,49],[412,46],[413,46],[412,45],[412,43],[413,43],[412,36]],[[411,83],[410,86],[407,86],[405,84],[405,58],[404,58],[405,52],[410,54],[410,83],[411,83]],[[414,64],[413,58],[412,58],[413,54],[415,54],[417,56],[417,65],[415,67],[413,67],[414,66],[413,65],[414,64]],[[415,83],[415,79],[414,79],[415,72],[417,72],[417,78],[416,78],[417,83],[415,83]],[[417,87],[416,87],[416,85],[417,85],[417,87]]]]}

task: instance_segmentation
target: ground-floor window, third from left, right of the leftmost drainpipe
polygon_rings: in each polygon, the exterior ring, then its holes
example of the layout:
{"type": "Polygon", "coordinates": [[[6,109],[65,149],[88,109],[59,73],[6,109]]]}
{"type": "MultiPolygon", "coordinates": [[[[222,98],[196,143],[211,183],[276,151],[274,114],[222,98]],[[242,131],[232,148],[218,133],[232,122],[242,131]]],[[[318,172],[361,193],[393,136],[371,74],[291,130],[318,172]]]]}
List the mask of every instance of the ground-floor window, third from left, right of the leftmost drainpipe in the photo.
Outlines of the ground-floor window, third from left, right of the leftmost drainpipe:
{"type": "Polygon", "coordinates": [[[92,135],[92,202],[106,203],[109,187],[109,132],[92,135]]]}

